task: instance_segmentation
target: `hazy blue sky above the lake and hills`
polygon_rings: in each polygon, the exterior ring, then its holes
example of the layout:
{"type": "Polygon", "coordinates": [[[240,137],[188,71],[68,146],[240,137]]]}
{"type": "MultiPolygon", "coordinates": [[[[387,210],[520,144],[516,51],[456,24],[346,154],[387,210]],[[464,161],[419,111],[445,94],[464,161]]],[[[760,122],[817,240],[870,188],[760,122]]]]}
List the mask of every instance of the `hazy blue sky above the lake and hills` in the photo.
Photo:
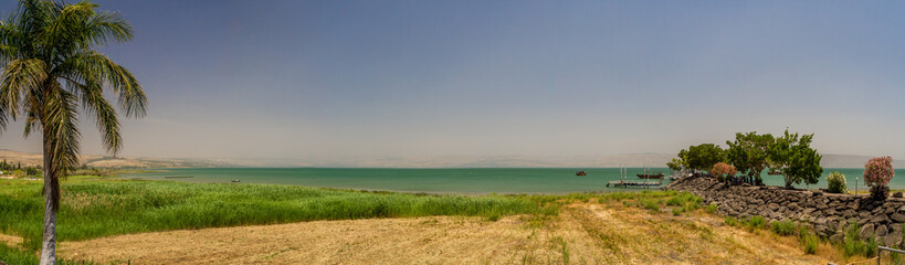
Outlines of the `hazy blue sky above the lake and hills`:
{"type": "MultiPolygon", "coordinates": [[[[788,126],[905,158],[901,1],[98,3],[150,100],[126,156],[676,152],[788,126]]],[[[39,150],[21,131],[0,148],[39,150]]]]}

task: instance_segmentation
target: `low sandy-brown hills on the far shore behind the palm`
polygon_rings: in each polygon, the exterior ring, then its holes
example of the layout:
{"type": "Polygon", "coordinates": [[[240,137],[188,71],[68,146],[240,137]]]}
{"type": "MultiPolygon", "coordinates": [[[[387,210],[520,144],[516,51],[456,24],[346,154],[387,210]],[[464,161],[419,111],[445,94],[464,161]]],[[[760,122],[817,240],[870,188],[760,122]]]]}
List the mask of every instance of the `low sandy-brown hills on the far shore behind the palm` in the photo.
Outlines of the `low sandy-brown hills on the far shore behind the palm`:
{"type": "MultiPolygon", "coordinates": [[[[13,165],[21,162],[22,167],[39,167],[42,166],[44,157],[41,153],[0,149],[0,159],[13,165]]],[[[81,156],[80,160],[88,167],[114,169],[232,167],[231,163],[203,159],[113,158],[85,155],[81,156]]]]}

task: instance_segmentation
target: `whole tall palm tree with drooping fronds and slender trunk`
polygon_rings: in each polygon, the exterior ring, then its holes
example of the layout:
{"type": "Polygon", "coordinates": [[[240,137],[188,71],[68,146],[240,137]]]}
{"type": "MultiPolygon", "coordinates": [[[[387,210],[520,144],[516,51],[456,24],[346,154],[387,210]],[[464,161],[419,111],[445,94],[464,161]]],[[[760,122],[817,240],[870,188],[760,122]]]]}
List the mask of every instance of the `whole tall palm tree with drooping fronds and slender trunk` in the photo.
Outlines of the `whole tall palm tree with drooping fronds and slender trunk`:
{"type": "Polygon", "coordinates": [[[21,0],[0,21],[0,128],[25,120],[25,134],[41,131],[44,152],[44,237],[41,264],[56,262],[60,179],[78,166],[77,115],[93,115],[104,148],[123,147],[119,121],[106,92],[127,117],[144,117],[147,98],[123,66],[95,51],[131,40],[131,26],[117,12],[95,11],[91,1],[69,4],[21,0]]]}

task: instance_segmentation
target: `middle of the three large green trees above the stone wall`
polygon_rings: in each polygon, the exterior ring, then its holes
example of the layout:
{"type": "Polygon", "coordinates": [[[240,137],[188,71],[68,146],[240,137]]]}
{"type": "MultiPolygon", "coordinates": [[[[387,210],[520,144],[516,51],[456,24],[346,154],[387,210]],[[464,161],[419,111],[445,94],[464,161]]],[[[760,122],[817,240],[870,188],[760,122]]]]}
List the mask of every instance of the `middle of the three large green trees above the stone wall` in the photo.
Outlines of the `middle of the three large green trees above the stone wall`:
{"type": "Polygon", "coordinates": [[[761,183],[760,172],[769,166],[767,149],[775,141],[770,134],[758,135],[757,131],[735,134],[735,141],[726,141],[726,158],[738,171],[755,178],[761,183]]]}

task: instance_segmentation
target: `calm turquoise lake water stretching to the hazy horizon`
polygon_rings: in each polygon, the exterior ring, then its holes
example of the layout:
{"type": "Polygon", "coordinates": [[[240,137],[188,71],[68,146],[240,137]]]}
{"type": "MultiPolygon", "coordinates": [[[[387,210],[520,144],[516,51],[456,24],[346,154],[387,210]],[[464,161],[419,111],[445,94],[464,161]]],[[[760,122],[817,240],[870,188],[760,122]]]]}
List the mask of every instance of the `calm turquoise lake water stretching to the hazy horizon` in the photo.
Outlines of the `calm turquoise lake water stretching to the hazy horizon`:
{"type": "MultiPolygon", "coordinates": [[[[629,180],[638,180],[640,168],[630,168],[629,180]]],[[[652,169],[666,172],[669,169],[652,169]]],[[[825,177],[832,171],[846,176],[849,189],[855,188],[855,177],[861,179],[863,169],[824,169],[820,183],[808,188],[827,188],[825,177]]],[[[766,171],[765,171],[766,172],[766,171]]],[[[903,171],[896,170],[898,176],[903,171]]],[[[167,169],[148,173],[128,174],[124,178],[172,180],[186,182],[294,184],[340,189],[389,190],[429,193],[570,193],[589,191],[636,191],[640,188],[607,188],[607,181],[619,180],[618,168],[476,168],[476,169],[360,169],[360,168],[197,168],[167,169]],[[575,176],[585,170],[588,176],[575,176]],[[187,177],[192,178],[165,178],[187,177]]],[[[770,186],[782,186],[781,176],[767,176],[770,186]]],[[[663,180],[667,183],[670,180],[663,180]]],[[[863,181],[859,187],[864,190],[863,181]]],[[[905,189],[905,177],[893,178],[893,189],[905,189]]],[[[798,186],[806,188],[806,186],[798,186]]]]}

